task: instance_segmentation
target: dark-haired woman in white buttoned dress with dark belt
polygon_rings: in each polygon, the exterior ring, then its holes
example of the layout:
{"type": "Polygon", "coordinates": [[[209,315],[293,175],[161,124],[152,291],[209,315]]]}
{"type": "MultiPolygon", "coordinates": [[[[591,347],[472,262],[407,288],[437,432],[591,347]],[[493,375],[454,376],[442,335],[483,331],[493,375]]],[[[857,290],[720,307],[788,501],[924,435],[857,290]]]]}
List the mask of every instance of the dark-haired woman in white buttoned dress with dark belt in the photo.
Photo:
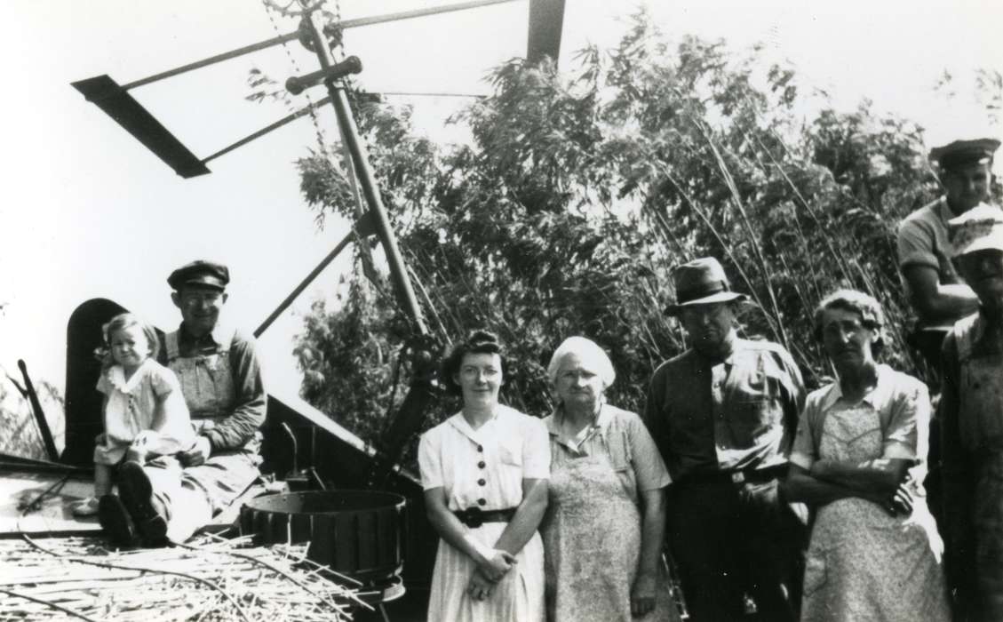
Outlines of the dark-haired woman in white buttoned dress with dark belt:
{"type": "Polygon", "coordinates": [[[505,359],[477,331],[443,363],[463,408],[421,436],[418,465],[438,532],[429,620],[543,622],[550,444],[541,419],[498,403],[505,359]]]}

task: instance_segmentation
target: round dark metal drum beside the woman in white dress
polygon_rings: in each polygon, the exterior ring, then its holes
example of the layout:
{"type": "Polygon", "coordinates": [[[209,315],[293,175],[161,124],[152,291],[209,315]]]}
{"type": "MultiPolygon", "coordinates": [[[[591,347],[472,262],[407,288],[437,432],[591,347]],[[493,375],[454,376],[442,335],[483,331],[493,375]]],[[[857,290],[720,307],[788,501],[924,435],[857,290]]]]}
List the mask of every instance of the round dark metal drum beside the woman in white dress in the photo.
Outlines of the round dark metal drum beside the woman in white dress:
{"type": "Polygon", "coordinates": [[[391,583],[404,564],[405,500],[375,491],[266,495],[241,509],[241,533],[264,544],[310,543],[307,557],[367,586],[391,583]]]}

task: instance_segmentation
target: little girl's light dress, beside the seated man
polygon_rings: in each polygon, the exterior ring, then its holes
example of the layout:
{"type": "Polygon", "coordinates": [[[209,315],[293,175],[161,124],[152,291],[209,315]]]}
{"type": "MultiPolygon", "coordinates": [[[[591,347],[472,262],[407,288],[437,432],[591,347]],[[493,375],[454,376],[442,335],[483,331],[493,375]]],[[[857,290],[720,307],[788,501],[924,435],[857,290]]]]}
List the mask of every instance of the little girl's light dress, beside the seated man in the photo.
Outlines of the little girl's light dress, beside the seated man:
{"type": "Polygon", "coordinates": [[[94,447],[94,462],[116,464],[136,434],[151,429],[160,408],[164,424],[156,441],[147,447],[153,453],[171,455],[192,447],[195,430],[178,377],[163,365],[147,358],[128,380],[121,365],[101,372],[97,390],[104,393],[104,442],[94,447]]]}

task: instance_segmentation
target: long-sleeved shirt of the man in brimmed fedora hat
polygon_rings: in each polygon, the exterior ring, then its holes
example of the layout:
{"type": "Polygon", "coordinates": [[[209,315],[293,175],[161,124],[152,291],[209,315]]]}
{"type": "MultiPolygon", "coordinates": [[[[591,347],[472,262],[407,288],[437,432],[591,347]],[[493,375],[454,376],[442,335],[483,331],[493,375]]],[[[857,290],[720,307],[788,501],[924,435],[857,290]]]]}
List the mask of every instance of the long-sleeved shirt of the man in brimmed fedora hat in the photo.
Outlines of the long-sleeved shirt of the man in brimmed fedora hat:
{"type": "Polygon", "coordinates": [[[736,338],[723,360],[689,349],[662,363],[645,422],[679,482],[785,463],[803,402],[801,374],[786,350],[736,338]]]}

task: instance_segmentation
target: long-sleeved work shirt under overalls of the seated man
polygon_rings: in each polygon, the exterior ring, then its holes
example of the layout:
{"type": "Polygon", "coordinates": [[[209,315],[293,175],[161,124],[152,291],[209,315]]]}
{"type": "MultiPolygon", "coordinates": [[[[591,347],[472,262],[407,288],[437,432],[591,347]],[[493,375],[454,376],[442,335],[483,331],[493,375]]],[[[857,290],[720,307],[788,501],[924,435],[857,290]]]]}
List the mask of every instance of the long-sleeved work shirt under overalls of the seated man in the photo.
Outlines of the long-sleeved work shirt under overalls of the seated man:
{"type": "MultiPolygon", "coordinates": [[[[229,368],[227,378],[213,378],[216,387],[226,384],[225,392],[232,392],[232,399],[230,395],[225,398],[221,396],[221,399],[228,402],[223,412],[204,412],[204,404],[196,403],[196,400],[202,400],[196,397],[195,391],[186,388],[186,380],[180,376],[193,420],[208,417],[213,419],[211,428],[202,427],[200,431],[209,438],[213,452],[255,445],[258,428],[265,422],[268,398],[254,339],[243,331],[235,331],[233,328],[220,325],[199,338],[191,335],[182,324],[174,335],[177,335],[179,358],[198,361],[199,365],[206,367],[210,377],[218,370],[217,367],[220,368],[219,371],[229,368]],[[226,357],[226,361],[217,363],[216,359],[223,356],[226,357]]],[[[158,358],[162,364],[170,366],[168,354],[170,348],[165,343],[161,346],[163,347],[160,348],[158,358]]],[[[201,377],[201,374],[198,377],[201,377]]],[[[209,387],[208,390],[213,391],[216,388],[209,387]]],[[[253,448],[257,450],[256,445],[253,448]]]]}

